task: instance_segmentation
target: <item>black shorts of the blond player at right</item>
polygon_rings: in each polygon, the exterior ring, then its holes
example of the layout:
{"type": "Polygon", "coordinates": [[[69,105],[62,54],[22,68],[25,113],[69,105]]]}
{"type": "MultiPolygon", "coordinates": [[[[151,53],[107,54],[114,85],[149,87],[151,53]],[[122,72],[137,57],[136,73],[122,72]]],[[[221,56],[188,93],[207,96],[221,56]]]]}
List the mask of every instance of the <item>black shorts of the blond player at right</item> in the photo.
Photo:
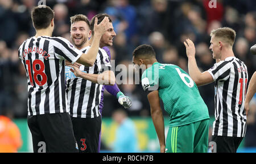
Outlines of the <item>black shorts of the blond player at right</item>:
{"type": "Polygon", "coordinates": [[[236,153],[243,137],[212,136],[216,143],[216,153],[236,153]]]}

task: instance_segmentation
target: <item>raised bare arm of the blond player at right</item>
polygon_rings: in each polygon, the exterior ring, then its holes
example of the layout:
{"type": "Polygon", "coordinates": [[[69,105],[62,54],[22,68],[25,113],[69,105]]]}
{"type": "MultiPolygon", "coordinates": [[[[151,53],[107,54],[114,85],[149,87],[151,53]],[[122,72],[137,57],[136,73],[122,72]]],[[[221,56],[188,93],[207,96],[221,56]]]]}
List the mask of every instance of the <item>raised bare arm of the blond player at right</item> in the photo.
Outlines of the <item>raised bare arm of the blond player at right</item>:
{"type": "MultiPolygon", "coordinates": [[[[213,77],[210,75],[209,72],[201,72],[196,64],[196,48],[193,42],[189,39],[186,40],[187,43],[184,41],[184,45],[186,47],[186,53],[188,57],[188,72],[189,76],[195,81],[197,86],[206,85],[212,83],[213,77]]],[[[216,61],[217,62],[217,61],[216,61]]]]}

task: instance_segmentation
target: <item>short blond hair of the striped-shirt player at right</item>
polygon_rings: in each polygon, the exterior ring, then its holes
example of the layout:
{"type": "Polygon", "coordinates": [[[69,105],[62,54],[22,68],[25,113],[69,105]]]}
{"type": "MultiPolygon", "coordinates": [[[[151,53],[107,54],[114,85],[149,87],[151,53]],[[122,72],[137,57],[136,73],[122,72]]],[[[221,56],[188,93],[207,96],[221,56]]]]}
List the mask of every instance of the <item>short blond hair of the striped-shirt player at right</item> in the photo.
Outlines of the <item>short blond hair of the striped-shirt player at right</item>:
{"type": "Polygon", "coordinates": [[[210,36],[218,37],[221,39],[221,41],[233,46],[236,38],[236,32],[232,28],[222,27],[211,31],[210,36]]]}

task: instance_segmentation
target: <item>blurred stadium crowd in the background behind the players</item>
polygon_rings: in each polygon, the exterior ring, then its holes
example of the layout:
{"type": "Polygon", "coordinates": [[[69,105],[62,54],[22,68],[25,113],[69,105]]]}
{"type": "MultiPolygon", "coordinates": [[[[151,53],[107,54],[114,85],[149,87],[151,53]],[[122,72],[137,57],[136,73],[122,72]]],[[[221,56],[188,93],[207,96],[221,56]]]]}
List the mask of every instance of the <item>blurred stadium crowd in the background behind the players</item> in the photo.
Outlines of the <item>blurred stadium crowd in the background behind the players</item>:
{"type": "MultiPolygon", "coordinates": [[[[27,77],[18,58],[18,48],[35,34],[30,11],[38,2],[0,0],[0,110],[12,110],[14,118],[27,116],[27,77]]],[[[249,80],[256,70],[256,57],[250,53],[250,47],[256,44],[254,0],[216,0],[216,8],[210,8],[209,0],[47,0],[46,5],[55,11],[53,36],[68,40],[70,16],[84,14],[90,20],[98,13],[109,14],[117,33],[113,46],[109,47],[115,66],[131,64],[133,49],[150,44],[160,63],[177,64],[188,71],[183,41],[190,38],[196,45],[197,64],[201,70],[208,70],[215,62],[209,50],[210,31],[231,27],[237,33],[234,54],[247,65],[249,80]]],[[[213,116],[214,84],[210,85],[199,90],[213,116]]],[[[150,116],[150,106],[141,85],[121,84],[119,88],[133,102],[129,116],[150,116]]],[[[105,92],[103,116],[111,116],[113,110],[120,107],[117,100],[105,92]]],[[[255,115],[250,118],[248,125],[253,122],[252,129],[256,133],[255,115]]]]}

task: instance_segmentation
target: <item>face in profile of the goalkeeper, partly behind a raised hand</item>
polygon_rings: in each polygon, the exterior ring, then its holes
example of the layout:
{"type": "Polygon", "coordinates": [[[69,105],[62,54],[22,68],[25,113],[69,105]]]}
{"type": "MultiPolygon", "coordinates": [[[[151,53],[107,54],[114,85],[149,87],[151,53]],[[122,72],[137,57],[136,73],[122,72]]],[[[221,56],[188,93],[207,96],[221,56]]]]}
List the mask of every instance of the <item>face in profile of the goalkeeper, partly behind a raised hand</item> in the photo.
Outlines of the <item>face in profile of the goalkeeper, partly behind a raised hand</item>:
{"type": "Polygon", "coordinates": [[[104,46],[112,46],[113,45],[113,38],[117,34],[114,31],[113,24],[111,22],[108,23],[108,30],[101,36],[100,40],[100,47],[104,46]]]}

